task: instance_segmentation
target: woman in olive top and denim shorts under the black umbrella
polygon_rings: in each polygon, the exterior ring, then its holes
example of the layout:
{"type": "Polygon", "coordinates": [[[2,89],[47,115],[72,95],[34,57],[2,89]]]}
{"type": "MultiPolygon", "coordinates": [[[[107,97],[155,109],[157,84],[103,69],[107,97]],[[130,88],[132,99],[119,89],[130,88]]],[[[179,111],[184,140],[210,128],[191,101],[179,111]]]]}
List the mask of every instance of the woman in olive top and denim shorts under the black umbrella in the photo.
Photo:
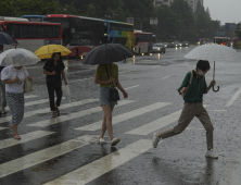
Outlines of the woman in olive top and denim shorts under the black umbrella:
{"type": "Polygon", "coordinates": [[[113,134],[112,127],[112,112],[114,110],[115,104],[117,101],[110,100],[110,87],[117,86],[117,88],[123,92],[124,98],[128,98],[128,94],[122,87],[119,79],[118,79],[118,65],[111,63],[111,64],[100,64],[96,70],[94,75],[94,84],[99,84],[99,100],[100,107],[104,112],[104,118],[102,122],[102,130],[101,135],[99,138],[99,143],[101,145],[105,144],[104,140],[104,133],[107,130],[107,133],[111,138],[111,146],[115,146],[120,141],[120,138],[115,138],[113,134]],[[110,74],[110,77],[109,77],[110,74]]]}

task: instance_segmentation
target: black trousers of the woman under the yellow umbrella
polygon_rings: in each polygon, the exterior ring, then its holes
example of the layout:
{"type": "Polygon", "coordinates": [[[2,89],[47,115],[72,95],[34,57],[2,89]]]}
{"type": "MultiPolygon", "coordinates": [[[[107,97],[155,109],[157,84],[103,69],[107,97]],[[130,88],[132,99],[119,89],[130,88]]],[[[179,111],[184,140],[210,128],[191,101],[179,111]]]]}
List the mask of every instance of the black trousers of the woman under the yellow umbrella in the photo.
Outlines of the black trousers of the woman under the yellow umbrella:
{"type": "Polygon", "coordinates": [[[62,84],[61,83],[47,83],[47,88],[49,92],[49,102],[50,102],[50,109],[51,111],[55,110],[55,104],[56,107],[60,107],[61,104],[61,99],[62,99],[62,84]],[[54,103],[54,91],[56,94],[56,103],[54,103]]]}

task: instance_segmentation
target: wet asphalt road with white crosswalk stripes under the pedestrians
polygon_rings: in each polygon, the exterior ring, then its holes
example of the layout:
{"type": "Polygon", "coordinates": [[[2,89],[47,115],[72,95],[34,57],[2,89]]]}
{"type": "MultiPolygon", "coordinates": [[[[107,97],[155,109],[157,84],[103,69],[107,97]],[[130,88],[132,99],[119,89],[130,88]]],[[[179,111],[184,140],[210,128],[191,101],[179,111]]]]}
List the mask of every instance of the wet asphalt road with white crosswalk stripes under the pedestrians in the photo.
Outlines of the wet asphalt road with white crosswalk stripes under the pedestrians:
{"type": "MultiPolygon", "coordinates": [[[[29,66],[35,91],[26,95],[21,141],[12,139],[11,113],[0,119],[0,185],[240,185],[240,61],[217,62],[220,90],[204,96],[218,160],[205,159],[205,130],[196,119],[152,148],[152,133],[177,124],[183,107],[177,88],[196,64],[183,55],[193,48],[168,48],[165,54],[118,63],[129,97],[122,96],[113,113],[114,135],[122,138],[115,148],[107,133],[107,144],[98,144],[103,113],[93,84],[96,66],[65,61],[72,103],[63,99],[56,119],[49,110],[43,62],[29,66]]],[[[211,70],[207,84],[212,76],[211,70]]]]}

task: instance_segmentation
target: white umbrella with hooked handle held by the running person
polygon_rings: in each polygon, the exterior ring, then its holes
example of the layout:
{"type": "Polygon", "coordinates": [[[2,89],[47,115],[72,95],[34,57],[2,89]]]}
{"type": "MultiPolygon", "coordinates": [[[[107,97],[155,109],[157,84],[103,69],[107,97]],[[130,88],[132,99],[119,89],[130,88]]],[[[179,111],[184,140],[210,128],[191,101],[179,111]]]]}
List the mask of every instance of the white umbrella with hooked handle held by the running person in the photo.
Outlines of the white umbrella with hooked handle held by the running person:
{"type": "MultiPolygon", "coordinates": [[[[221,45],[203,45],[200,47],[196,47],[192,51],[190,51],[187,55],[185,55],[186,59],[196,59],[196,60],[207,60],[207,61],[214,61],[214,75],[213,81],[215,81],[215,61],[239,61],[239,54],[234,49],[231,49],[226,46],[221,45]]],[[[214,91],[215,90],[213,86],[214,91]]]]}

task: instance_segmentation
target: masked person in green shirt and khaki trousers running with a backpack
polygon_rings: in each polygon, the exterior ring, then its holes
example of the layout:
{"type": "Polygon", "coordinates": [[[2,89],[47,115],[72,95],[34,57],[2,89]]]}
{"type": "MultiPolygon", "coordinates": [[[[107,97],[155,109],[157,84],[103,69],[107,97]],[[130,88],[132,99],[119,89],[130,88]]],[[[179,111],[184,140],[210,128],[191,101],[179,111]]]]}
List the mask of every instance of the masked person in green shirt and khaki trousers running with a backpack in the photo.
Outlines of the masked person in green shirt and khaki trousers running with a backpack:
{"type": "Polygon", "coordinates": [[[208,61],[200,60],[196,64],[195,71],[189,72],[186,75],[181,86],[178,88],[178,92],[183,95],[185,100],[185,107],[182,109],[178,124],[174,128],[166,132],[158,134],[154,133],[152,137],[152,145],[154,148],[157,147],[157,144],[161,139],[180,134],[190,124],[193,118],[196,116],[206,130],[207,151],[205,157],[213,159],[218,158],[214,155],[213,151],[214,127],[207,111],[203,107],[203,94],[207,94],[210,89],[216,84],[215,81],[212,81],[208,87],[206,85],[204,76],[207,71],[210,71],[210,69],[211,66],[208,61]],[[190,82],[191,84],[189,85],[190,82]]]}

